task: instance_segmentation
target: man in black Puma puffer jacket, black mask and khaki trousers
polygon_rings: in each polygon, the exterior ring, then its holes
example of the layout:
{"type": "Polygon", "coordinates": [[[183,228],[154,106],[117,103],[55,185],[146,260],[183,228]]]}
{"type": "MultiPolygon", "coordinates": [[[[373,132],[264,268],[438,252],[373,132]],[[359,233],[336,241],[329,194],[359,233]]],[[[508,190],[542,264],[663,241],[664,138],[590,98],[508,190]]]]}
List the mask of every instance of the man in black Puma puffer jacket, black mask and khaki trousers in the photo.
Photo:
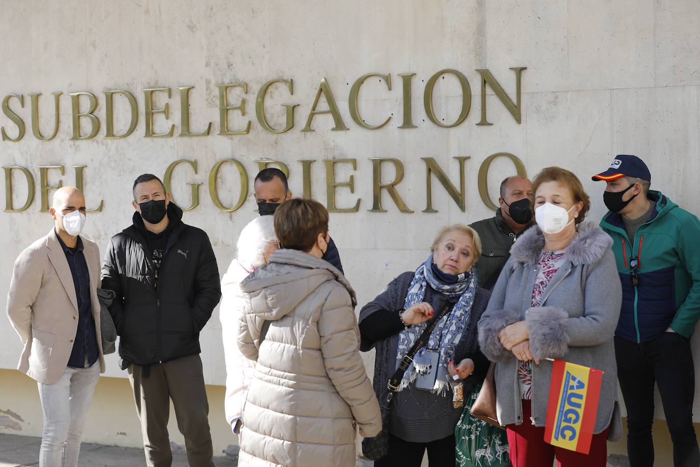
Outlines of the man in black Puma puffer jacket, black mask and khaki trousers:
{"type": "Polygon", "coordinates": [[[170,466],[172,399],[190,466],[213,467],[200,331],[221,298],[209,237],[181,221],[182,209],[157,176],[134,181],[133,225],[112,237],[102,288],[116,293],[110,314],[120,336],[148,466],[170,466]]]}

